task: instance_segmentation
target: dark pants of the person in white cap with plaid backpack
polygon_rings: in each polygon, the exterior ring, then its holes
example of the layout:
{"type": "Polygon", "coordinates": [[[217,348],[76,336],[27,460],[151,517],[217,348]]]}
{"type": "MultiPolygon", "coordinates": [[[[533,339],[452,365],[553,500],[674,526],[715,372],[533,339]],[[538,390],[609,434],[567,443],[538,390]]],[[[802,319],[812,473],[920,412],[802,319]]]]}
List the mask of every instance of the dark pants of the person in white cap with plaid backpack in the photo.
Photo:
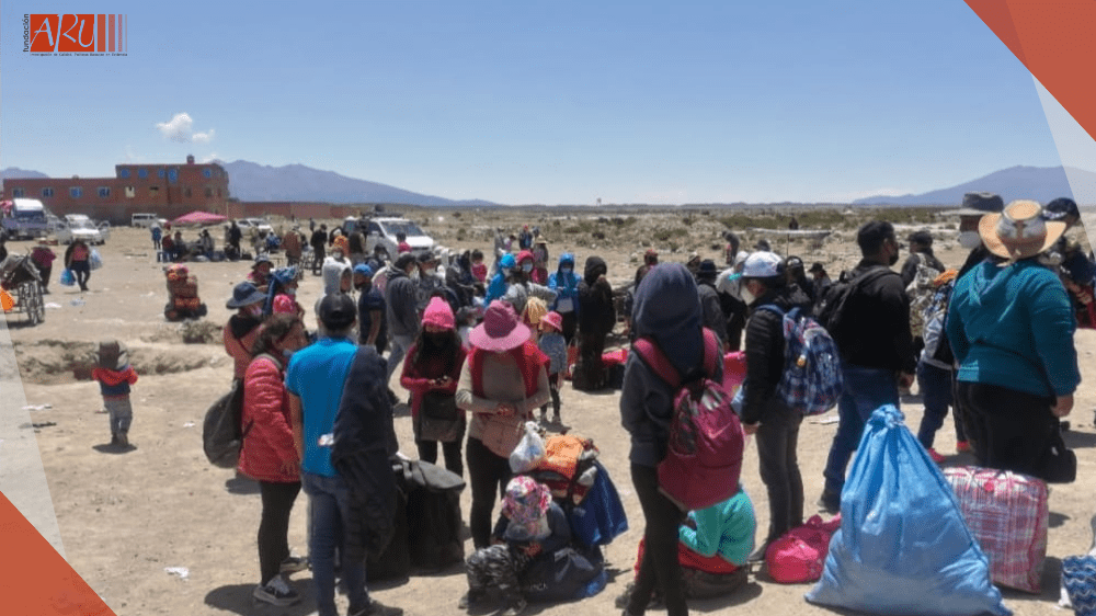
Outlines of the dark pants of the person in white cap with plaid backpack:
{"type": "Polygon", "coordinates": [[[803,478],[796,456],[803,415],[776,400],[767,410],[755,437],[761,480],[768,491],[765,540],[772,541],[803,524],[803,478]]]}

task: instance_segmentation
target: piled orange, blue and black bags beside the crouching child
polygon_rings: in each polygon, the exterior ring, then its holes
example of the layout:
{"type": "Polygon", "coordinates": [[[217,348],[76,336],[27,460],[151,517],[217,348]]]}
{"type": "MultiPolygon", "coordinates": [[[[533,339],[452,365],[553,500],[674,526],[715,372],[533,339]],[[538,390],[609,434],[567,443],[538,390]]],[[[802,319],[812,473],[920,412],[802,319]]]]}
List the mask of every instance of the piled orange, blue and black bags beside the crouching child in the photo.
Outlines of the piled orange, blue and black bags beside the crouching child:
{"type": "Polygon", "coordinates": [[[530,602],[572,601],[601,592],[608,579],[600,546],[628,529],[628,518],[608,471],[597,461],[593,441],[557,434],[545,441],[545,455],[526,472],[548,488],[563,510],[571,545],[538,558],[521,575],[530,602]]]}

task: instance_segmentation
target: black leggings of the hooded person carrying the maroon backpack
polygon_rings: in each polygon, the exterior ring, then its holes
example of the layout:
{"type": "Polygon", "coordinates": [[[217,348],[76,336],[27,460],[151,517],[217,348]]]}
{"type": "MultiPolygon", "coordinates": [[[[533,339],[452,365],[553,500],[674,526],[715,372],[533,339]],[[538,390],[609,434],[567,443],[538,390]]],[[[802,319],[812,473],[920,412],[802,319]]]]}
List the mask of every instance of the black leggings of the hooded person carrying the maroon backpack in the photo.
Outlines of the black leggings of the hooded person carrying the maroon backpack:
{"type": "Polygon", "coordinates": [[[677,561],[677,529],[685,512],[659,492],[659,474],[653,466],[631,465],[631,482],[643,507],[643,560],[636,586],[628,600],[628,614],[642,615],[655,588],[662,590],[669,616],[686,616],[682,566],[677,561]]]}

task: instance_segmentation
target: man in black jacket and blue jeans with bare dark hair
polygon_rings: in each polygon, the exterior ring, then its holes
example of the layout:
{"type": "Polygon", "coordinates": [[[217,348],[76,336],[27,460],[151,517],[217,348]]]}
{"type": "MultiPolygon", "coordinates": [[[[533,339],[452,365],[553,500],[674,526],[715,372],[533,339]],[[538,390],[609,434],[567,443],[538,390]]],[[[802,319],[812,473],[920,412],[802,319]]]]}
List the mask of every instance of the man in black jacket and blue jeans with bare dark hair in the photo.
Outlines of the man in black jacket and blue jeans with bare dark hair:
{"type": "Polygon", "coordinates": [[[898,263],[899,246],[890,223],[872,220],[856,233],[863,259],[849,272],[853,288],[841,323],[830,331],[841,352],[844,392],[837,402],[841,422],[826,460],[825,489],[819,506],[841,509],[845,466],[860,443],[864,424],[883,404],[899,406],[899,386],[913,384],[916,364],[910,333],[910,299],[898,263]]]}

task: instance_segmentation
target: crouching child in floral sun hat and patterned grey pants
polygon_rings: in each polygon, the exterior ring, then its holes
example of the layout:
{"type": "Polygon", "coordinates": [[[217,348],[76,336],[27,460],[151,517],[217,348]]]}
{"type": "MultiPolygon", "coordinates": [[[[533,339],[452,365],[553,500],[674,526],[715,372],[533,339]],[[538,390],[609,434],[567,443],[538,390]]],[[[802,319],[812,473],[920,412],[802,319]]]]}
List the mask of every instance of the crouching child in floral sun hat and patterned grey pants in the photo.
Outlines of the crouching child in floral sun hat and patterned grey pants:
{"type": "Polygon", "coordinates": [[[539,555],[553,558],[571,541],[571,528],[563,510],[552,502],[548,487],[523,475],[506,484],[493,537],[498,543],[468,557],[468,594],[458,607],[467,609],[482,603],[488,588],[493,585],[507,604],[502,616],[518,616],[527,606],[518,575],[539,555]]]}

